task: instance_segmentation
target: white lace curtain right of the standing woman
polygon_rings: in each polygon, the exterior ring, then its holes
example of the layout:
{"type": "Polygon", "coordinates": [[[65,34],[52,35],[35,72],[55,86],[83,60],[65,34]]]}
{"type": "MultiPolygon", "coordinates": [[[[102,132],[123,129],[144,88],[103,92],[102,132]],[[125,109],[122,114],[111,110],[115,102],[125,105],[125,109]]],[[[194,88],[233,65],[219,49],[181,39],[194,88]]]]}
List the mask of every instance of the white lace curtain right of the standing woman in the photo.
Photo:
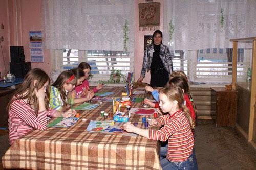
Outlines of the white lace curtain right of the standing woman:
{"type": "Polygon", "coordinates": [[[232,48],[230,39],[256,36],[255,16],[255,0],[164,0],[163,41],[172,50],[232,48]]]}

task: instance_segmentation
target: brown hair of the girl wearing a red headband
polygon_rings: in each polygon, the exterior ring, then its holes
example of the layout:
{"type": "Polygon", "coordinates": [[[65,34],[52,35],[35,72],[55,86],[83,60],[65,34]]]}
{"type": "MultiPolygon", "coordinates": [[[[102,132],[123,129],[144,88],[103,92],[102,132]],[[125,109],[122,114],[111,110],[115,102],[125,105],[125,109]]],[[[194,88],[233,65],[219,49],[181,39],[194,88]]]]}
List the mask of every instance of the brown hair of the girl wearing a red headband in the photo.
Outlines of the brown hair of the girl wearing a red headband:
{"type": "Polygon", "coordinates": [[[60,97],[62,101],[67,104],[67,93],[64,88],[64,84],[72,84],[76,85],[76,77],[74,76],[73,72],[71,70],[62,71],[61,74],[58,76],[56,81],[52,84],[52,86],[56,87],[60,92],[60,97]],[[74,77],[72,80],[69,81],[71,77],[74,77]]]}

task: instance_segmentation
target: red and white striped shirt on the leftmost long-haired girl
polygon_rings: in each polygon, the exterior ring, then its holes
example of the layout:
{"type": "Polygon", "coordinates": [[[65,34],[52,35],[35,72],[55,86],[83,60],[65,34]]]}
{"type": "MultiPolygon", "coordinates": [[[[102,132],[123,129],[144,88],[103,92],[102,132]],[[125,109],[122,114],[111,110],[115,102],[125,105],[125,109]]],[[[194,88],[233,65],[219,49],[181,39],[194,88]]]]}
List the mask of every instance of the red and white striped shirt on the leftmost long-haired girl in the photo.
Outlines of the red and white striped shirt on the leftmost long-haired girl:
{"type": "Polygon", "coordinates": [[[22,137],[33,128],[45,130],[47,125],[47,116],[53,117],[55,111],[38,110],[35,111],[23,99],[14,100],[9,109],[9,143],[10,145],[18,138],[22,137]]]}

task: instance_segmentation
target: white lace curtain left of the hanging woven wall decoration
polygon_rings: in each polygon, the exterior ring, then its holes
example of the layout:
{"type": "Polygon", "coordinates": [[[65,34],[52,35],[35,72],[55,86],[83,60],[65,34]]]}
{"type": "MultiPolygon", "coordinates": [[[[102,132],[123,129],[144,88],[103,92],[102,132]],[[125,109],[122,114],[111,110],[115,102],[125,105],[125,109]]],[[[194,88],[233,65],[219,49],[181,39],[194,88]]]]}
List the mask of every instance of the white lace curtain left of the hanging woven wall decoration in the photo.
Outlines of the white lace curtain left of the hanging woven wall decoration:
{"type": "Polygon", "coordinates": [[[127,21],[127,47],[133,51],[133,0],[43,0],[42,12],[47,49],[122,51],[123,26],[127,21]]]}

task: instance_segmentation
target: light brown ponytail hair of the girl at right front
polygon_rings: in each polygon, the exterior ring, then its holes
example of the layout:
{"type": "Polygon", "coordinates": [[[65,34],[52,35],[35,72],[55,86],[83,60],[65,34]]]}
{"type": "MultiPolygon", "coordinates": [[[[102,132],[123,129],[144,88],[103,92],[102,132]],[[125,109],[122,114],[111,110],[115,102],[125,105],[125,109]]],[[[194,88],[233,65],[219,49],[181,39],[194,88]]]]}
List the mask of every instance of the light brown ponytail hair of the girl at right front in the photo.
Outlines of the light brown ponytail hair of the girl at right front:
{"type": "Polygon", "coordinates": [[[181,108],[183,109],[183,113],[187,117],[190,123],[191,129],[195,128],[195,123],[193,122],[193,119],[190,116],[188,109],[186,108],[186,106],[184,106],[183,91],[180,87],[172,86],[172,85],[166,86],[159,91],[159,94],[165,94],[170,101],[177,101],[178,102],[177,105],[179,109],[181,108]]]}

